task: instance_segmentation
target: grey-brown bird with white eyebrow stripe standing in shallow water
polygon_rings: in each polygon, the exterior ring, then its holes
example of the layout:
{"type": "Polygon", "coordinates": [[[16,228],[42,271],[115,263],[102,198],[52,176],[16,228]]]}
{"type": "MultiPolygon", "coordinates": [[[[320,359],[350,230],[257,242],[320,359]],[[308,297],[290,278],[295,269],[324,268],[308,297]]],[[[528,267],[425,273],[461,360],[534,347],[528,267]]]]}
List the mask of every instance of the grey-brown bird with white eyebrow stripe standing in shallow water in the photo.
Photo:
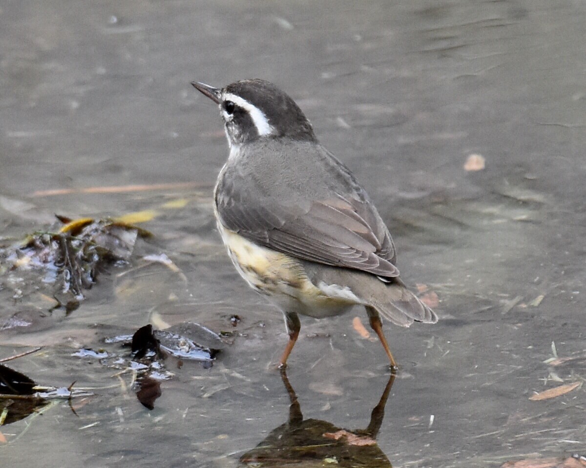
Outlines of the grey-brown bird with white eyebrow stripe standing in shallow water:
{"type": "Polygon", "coordinates": [[[401,326],[438,318],[399,278],[393,239],[362,185],[274,84],[192,85],[219,106],[230,147],[214,188],[217,227],[236,270],[285,316],[280,367],[299,336],[298,314],[363,305],[396,370],[380,316],[401,326]]]}

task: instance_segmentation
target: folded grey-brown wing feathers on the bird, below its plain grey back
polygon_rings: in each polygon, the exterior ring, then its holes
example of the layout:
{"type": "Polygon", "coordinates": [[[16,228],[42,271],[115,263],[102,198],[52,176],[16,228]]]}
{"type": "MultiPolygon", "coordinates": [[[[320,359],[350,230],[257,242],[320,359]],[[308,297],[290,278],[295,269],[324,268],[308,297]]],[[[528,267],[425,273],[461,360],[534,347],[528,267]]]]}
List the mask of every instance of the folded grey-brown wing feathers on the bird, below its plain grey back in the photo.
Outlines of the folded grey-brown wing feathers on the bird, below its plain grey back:
{"type": "MultiPolygon", "coordinates": [[[[236,181],[233,181],[236,182],[236,181]]],[[[332,194],[315,201],[251,197],[223,184],[216,206],[224,227],[259,245],[303,260],[397,277],[393,240],[364,197],[332,194]]]]}

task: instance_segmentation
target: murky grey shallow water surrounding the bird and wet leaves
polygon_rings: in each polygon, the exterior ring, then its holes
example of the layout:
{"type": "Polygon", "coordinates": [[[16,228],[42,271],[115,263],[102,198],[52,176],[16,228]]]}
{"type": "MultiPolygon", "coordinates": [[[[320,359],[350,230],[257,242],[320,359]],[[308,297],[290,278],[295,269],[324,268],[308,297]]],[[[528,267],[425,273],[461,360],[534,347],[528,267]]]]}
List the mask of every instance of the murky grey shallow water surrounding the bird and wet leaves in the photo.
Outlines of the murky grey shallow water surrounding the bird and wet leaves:
{"type": "MultiPolygon", "coordinates": [[[[369,190],[404,280],[441,300],[437,325],[386,327],[402,369],[377,441],[393,466],[584,452],[584,388],[529,397],[586,376],[585,13],[570,0],[5,2],[2,235],[46,228],[54,213],[158,215],[133,267],[108,270],[79,309],[0,332],[0,357],[43,346],[9,366],[95,394],[77,416],[62,402],[2,426],[2,465],[238,466],[287,421],[271,365],[282,318],[237,276],[215,231],[226,142],[216,109],[189,85],[245,77],[301,105],[369,190]],[[465,171],[470,154],[486,168],[465,171]],[[192,184],[79,191],[167,183],[192,184]],[[182,274],[139,260],[147,253],[166,253],[182,274]],[[130,372],[71,356],[148,322],[231,330],[233,314],[240,336],[212,369],[167,363],[175,377],[153,411],[130,372]],[[552,342],[573,359],[544,363],[552,342]]],[[[42,311],[6,287],[0,297],[2,320],[42,311]]],[[[288,369],[304,417],[347,429],[368,424],[389,378],[354,316],[366,323],[358,309],[302,319],[288,369]]]]}

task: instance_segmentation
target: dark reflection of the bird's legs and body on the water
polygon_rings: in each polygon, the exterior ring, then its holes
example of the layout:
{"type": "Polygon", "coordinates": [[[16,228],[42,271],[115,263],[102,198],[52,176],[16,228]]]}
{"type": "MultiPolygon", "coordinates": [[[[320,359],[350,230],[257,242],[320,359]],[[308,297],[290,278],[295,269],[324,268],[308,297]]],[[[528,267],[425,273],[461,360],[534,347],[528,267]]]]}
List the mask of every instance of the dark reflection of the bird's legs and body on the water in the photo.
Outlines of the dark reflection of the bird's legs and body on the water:
{"type": "Polygon", "coordinates": [[[347,431],[328,421],[304,419],[295,390],[287,373],[281,370],[291,406],[289,420],[275,428],[263,442],[240,457],[244,466],[314,467],[340,466],[361,468],[392,468],[376,442],[383,422],[384,407],[393,386],[394,373],[389,377],[380,401],[370,414],[366,429],[347,431]]]}

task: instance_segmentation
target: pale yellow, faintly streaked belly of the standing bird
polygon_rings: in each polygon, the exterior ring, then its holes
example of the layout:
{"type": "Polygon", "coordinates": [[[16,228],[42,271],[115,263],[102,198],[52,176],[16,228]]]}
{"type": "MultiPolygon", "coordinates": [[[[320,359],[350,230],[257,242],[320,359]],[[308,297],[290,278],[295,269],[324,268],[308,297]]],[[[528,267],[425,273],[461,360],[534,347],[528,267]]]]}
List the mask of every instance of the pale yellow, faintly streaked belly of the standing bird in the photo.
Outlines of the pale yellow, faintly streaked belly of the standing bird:
{"type": "Polygon", "coordinates": [[[297,259],[256,245],[220,223],[218,228],[240,275],[283,311],[321,318],[362,304],[352,292],[335,285],[314,285],[297,259]]]}

